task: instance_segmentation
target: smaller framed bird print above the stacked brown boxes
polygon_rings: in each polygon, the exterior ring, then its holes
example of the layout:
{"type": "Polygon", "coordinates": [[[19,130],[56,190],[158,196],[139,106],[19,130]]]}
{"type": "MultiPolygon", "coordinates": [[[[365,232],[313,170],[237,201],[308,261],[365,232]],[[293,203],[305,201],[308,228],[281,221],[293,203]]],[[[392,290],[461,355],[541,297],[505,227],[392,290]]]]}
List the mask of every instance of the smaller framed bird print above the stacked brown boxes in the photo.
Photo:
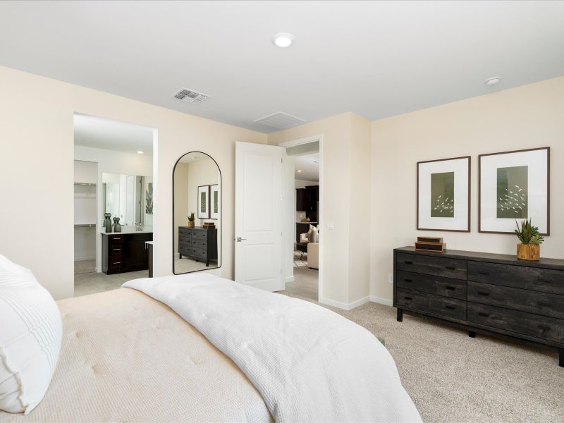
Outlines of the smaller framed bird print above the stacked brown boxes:
{"type": "Polygon", "coordinates": [[[470,156],[417,162],[417,229],[470,232],[470,156]]]}

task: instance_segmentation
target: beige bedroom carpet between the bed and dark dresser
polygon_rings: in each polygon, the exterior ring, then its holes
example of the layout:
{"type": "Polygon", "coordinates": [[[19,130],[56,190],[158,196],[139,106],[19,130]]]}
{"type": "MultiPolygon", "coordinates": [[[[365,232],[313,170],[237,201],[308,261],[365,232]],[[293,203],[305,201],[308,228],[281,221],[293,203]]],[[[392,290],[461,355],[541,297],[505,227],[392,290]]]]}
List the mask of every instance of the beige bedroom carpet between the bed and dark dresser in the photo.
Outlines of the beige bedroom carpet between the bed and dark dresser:
{"type": "Polygon", "coordinates": [[[374,302],[350,312],[327,308],[386,339],[424,422],[564,422],[564,368],[556,353],[469,338],[407,314],[400,323],[396,309],[374,302]]]}

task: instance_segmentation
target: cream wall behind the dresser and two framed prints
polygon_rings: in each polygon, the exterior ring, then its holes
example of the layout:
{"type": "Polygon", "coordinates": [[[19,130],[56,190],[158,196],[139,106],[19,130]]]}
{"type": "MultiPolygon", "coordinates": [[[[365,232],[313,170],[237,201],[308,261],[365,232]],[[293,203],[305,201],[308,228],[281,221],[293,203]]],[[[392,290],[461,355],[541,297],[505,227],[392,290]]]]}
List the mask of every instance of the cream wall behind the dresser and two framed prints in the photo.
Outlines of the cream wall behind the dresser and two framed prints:
{"type": "Polygon", "coordinates": [[[392,299],[394,247],[417,235],[448,248],[515,254],[514,235],[478,233],[478,154],[551,147],[551,236],[543,257],[564,259],[564,77],[372,122],[371,293],[392,299]],[[416,231],[417,161],[472,156],[472,231],[416,231]]]}

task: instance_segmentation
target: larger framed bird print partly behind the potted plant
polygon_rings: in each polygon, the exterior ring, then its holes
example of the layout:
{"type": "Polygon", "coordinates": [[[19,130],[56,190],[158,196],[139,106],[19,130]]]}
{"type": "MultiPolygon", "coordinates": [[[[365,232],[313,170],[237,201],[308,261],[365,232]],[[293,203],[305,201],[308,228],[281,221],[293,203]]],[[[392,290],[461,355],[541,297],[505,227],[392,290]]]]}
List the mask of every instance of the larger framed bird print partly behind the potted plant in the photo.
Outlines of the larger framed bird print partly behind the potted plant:
{"type": "Polygon", "coordinates": [[[478,174],[479,232],[514,233],[532,219],[550,234],[550,147],[481,154],[478,174]]]}

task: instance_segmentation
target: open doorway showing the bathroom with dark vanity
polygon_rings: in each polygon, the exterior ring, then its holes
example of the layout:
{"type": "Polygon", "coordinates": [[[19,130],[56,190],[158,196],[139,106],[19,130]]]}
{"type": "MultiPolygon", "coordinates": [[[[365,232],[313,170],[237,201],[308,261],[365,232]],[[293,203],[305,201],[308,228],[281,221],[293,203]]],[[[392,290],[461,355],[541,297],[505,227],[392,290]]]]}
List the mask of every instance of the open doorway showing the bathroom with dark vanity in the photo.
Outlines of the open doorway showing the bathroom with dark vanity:
{"type": "Polygon", "coordinates": [[[75,296],[149,276],[156,140],[154,128],[74,115],[75,296]]]}

